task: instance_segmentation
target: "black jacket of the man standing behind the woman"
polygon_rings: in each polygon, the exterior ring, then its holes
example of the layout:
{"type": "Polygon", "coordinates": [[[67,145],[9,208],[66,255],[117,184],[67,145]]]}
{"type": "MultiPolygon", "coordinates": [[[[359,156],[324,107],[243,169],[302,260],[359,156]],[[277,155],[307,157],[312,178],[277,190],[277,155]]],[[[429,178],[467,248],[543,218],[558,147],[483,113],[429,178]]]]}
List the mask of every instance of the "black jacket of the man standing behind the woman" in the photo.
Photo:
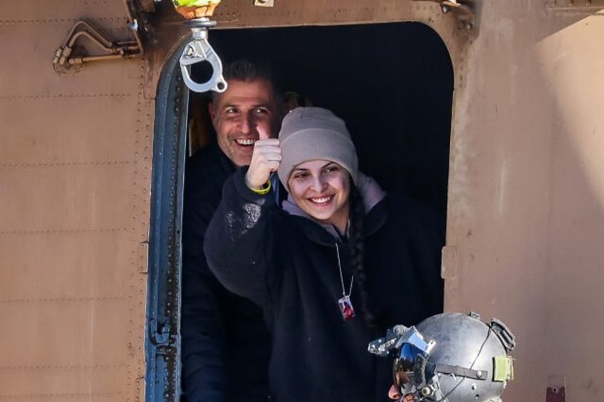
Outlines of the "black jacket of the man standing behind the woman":
{"type": "Polygon", "coordinates": [[[269,333],[260,307],[209,270],[204,232],[235,166],[217,145],[186,165],[182,230],[182,378],[187,402],[266,401],[269,333]]]}

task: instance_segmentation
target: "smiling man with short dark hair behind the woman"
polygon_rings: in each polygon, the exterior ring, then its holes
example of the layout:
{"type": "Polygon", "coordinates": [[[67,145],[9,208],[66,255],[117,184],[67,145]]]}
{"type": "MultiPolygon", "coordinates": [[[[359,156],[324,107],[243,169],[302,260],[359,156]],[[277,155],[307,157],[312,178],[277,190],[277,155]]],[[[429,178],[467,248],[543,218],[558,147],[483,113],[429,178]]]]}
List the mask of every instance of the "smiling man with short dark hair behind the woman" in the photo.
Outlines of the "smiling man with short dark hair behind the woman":
{"type": "Polygon", "coordinates": [[[267,65],[238,60],[224,68],[229,87],[214,93],[209,115],[217,144],[187,161],[182,231],[182,378],[187,402],[269,399],[270,338],[258,306],[225,289],[210,272],[204,232],[254,143],[274,137],[283,100],[267,65]]]}

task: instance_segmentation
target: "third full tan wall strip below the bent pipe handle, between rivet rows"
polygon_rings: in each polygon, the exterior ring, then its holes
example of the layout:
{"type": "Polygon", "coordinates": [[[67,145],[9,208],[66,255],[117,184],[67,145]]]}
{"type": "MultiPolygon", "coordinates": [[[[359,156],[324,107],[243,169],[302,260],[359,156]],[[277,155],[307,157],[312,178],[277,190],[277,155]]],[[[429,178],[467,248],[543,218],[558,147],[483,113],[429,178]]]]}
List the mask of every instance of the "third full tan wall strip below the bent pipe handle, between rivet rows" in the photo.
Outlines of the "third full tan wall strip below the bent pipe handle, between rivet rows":
{"type": "Polygon", "coordinates": [[[1,300],[87,302],[120,298],[135,285],[132,229],[0,233],[1,300]],[[22,248],[28,250],[24,253],[22,248]]]}

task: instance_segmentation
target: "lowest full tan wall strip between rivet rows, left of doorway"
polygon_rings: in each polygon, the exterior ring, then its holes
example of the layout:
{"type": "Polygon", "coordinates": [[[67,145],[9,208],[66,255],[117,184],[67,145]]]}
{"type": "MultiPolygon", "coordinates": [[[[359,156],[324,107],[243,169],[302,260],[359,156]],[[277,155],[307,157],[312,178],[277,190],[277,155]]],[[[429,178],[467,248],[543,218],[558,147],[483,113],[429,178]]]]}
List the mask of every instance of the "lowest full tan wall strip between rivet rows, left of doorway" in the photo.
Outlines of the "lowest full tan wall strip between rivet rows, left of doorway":
{"type": "MultiPolygon", "coordinates": [[[[13,300],[0,316],[10,328],[7,366],[123,364],[128,354],[128,297],[13,300]],[[23,319],[26,314],[27,320],[23,319]],[[122,330],[120,330],[122,329],[122,330]],[[52,361],[52,364],[49,364],[52,361]]],[[[74,383],[76,384],[76,383],[74,383]]],[[[78,386],[83,386],[78,381],[78,386]]],[[[5,387],[3,386],[3,389],[5,387]]]]}

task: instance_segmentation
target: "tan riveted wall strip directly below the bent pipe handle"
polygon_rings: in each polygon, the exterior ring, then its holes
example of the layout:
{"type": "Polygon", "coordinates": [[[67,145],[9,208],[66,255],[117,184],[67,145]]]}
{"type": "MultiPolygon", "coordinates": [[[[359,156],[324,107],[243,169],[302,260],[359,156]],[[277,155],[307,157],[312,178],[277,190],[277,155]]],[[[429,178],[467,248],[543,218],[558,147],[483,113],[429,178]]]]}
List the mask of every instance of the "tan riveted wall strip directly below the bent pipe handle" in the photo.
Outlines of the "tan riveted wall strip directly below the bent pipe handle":
{"type": "Polygon", "coordinates": [[[83,88],[87,87],[72,89],[79,93],[5,98],[5,107],[0,108],[6,130],[0,160],[14,169],[41,164],[132,169],[135,138],[129,133],[136,132],[137,120],[118,116],[137,102],[136,92],[85,92],[83,88]]]}

